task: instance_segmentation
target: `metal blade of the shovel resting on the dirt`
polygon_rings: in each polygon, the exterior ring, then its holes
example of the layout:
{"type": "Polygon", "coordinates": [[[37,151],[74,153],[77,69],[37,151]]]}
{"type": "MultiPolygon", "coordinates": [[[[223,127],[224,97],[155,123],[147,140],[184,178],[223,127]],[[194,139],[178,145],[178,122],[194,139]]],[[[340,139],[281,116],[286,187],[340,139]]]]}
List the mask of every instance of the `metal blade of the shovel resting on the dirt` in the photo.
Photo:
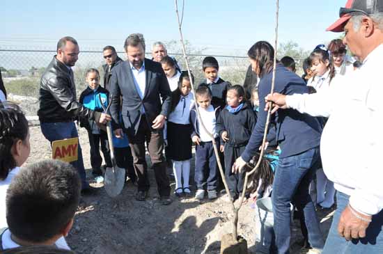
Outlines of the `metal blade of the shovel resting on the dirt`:
{"type": "Polygon", "coordinates": [[[124,188],[125,168],[107,168],[104,175],[104,188],[108,196],[115,198],[124,188]]]}

